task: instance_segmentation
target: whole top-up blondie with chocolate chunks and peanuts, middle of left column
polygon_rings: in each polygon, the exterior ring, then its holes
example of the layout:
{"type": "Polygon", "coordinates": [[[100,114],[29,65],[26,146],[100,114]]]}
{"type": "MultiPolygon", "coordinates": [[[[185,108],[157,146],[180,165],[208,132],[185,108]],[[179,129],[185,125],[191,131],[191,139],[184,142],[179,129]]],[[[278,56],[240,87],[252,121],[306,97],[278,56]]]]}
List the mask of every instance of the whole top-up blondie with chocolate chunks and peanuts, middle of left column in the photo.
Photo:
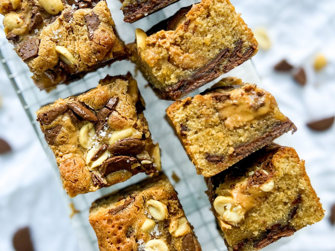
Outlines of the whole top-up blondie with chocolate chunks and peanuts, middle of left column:
{"type": "Polygon", "coordinates": [[[152,143],[143,110],[129,73],[107,76],[96,88],[37,111],[71,197],[160,170],[159,146],[152,143]]]}

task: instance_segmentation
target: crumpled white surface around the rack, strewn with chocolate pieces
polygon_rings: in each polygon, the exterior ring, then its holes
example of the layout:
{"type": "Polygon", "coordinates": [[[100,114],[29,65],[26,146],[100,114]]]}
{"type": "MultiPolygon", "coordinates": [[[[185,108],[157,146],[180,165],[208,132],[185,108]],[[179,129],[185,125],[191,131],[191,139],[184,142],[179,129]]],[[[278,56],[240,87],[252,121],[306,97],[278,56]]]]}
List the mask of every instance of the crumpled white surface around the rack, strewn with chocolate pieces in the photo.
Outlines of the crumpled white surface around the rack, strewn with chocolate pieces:
{"type": "MultiPolygon", "coordinates": [[[[276,250],[335,250],[335,228],[328,220],[330,206],[335,203],[335,126],[323,133],[312,132],[305,126],[313,118],[335,113],[335,2],[233,0],[232,3],[251,28],[264,26],[268,30],[272,47],[269,51],[260,50],[253,62],[262,86],[276,97],[282,112],[298,127],[293,136],[285,135],[278,142],[294,147],[306,160],[312,185],[327,210],[323,221],[280,240],[276,250]],[[326,55],[329,64],[315,73],[313,57],[318,52],[326,55]],[[304,88],[294,83],[289,74],[273,71],[273,65],[282,58],[305,67],[308,83],[304,88]]],[[[164,11],[172,9],[173,6],[164,11]]],[[[113,13],[113,17],[121,18],[121,12],[113,13]]],[[[139,27],[144,22],[139,21],[139,27]]],[[[0,95],[3,103],[0,137],[13,148],[10,154],[0,156],[0,250],[13,250],[11,237],[21,226],[30,226],[38,251],[79,250],[58,174],[40,146],[2,66],[0,95]]]]}

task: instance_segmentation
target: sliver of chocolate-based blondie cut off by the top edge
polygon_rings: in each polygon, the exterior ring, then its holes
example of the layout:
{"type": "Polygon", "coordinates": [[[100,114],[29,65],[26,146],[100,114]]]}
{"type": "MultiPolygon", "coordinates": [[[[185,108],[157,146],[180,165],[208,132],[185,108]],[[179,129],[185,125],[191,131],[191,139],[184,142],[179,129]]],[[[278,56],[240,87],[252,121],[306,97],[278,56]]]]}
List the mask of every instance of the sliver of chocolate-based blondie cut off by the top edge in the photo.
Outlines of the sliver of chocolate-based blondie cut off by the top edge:
{"type": "Polygon", "coordinates": [[[120,0],[121,10],[125,16],[123,21],[127,23],[135,22],[146,17],[170,4],[180,0],[120,0]]]}

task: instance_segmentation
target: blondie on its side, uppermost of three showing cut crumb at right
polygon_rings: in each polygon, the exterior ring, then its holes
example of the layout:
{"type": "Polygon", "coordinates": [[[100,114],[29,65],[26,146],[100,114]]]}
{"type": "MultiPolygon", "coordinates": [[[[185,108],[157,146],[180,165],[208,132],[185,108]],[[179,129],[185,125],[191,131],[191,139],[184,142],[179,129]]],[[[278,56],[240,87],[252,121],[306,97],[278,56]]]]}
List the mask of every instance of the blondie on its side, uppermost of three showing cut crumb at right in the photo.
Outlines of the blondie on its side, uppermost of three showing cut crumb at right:
{"type": "Polygon", "coordinates": [[[218,78],[258,51],[254,34],[228,0],[202,0],[127,45],[156,93],[177,100],[218,78]]]}

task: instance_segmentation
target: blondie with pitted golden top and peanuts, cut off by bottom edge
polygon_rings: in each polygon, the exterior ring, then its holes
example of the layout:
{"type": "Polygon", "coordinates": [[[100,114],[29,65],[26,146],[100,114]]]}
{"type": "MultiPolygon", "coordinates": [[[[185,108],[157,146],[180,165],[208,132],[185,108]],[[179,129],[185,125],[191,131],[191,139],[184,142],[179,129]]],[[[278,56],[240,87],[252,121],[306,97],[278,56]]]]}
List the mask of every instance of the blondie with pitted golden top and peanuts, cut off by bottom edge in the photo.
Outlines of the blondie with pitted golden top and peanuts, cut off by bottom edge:
{"type": "Polygon", "coordinates": [[[96,200],[89,222],[100,251],[201,251],[164,174],[96,200]]]}

